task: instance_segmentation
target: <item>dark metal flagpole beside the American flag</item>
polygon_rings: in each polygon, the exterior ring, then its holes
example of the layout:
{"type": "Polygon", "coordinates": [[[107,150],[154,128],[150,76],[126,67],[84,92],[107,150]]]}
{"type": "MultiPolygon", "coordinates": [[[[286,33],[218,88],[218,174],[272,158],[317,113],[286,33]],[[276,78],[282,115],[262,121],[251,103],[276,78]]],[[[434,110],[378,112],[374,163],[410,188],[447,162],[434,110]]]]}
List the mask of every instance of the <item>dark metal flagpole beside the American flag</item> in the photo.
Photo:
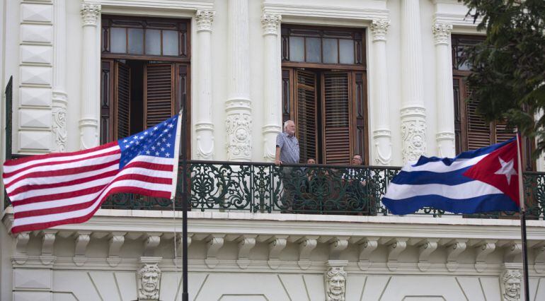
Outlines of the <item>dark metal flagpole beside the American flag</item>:
{"type": "MultiPolygon", "coordinates": [[[[185,109],[185,95],[183,95],[182,102],[185,109]]],[[[186,119],[187,113],[182,109],[182,281],[183,281],[183,293],[182,300],[189,301],[188,295],[188,181],[187,181],[187,153],[186,148],[186,119]]]]}

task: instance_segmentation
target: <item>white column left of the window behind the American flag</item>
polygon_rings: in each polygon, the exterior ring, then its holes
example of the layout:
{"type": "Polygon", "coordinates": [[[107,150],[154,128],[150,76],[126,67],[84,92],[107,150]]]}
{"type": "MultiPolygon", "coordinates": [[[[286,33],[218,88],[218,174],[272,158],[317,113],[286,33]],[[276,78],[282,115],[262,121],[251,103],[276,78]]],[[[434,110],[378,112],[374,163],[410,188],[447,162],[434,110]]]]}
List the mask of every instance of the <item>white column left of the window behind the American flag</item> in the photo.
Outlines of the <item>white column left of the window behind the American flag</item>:
{"type": "Polygon", "coordinates": [[[81,53],[81,115],[79,119],[80,148],[98,146],[98,71],[100,66],[96,47],[98,16],[101,6],[81,4],[83,26],[83,49],[81,53]]]}

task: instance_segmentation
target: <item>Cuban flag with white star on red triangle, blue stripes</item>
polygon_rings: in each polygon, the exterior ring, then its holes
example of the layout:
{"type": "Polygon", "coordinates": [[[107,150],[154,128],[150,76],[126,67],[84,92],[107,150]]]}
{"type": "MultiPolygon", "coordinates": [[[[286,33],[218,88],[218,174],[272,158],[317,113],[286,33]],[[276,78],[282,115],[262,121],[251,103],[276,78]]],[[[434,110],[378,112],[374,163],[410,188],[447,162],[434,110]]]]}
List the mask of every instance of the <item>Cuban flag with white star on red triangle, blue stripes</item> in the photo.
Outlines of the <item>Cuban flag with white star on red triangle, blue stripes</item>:
{"type": "Polygon", "coordinates": [[[517,139],[455,158],[427,158],[401,169],[382,199],[402,215],[432,207],[452,213],[519,211],[517,139]]]}

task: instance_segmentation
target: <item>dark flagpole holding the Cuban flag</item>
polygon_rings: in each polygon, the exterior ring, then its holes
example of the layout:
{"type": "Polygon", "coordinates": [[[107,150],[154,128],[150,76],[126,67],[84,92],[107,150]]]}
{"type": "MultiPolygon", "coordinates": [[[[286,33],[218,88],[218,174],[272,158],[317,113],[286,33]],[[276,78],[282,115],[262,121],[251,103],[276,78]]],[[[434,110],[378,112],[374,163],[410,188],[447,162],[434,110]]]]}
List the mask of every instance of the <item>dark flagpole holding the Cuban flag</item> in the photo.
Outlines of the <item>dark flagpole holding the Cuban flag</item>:
{"type": "Polygon", "coordinates": [[[524,300],[529,301],[529,287],[528,287],[528,252],[526,241],[526,204],[524,203],[524,190],[522,184],[522,159],[520,154],[520,148],[522,143],[520,141],[520,132],[517,131],[517,165],[518,165],[518,179],[519,179],[519,201],[520,201],[520,235],[522,240],[522,271],[524,278],[524,300]]]}

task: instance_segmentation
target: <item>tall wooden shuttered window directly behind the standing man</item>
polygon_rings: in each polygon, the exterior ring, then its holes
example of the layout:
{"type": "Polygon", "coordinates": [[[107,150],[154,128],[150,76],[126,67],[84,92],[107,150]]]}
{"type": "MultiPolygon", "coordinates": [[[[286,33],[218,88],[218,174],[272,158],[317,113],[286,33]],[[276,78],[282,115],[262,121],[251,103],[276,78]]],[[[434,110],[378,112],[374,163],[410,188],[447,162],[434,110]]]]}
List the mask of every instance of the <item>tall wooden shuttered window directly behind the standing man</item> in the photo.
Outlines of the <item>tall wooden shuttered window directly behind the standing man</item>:
{"type": "Polygon", "coordinates": [[[282,119],[297,126],[301,163],[367,158],[364,36],[361,29],[282,25],[282,119]]]}

